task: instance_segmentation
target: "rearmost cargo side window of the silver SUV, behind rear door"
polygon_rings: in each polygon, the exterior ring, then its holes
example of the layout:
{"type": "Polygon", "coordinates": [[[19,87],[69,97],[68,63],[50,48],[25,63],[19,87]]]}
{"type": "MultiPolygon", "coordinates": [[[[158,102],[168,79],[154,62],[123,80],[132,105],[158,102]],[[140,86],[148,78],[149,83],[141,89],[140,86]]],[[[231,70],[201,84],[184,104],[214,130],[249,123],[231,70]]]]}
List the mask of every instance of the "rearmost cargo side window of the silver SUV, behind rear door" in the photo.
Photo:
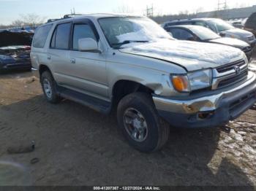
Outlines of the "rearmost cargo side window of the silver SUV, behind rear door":
{"type": "Polygon", "coordinates": [[[53,25],[41,26],[34,34],[33,47],[45,47],[45,42],[53,25]]]}

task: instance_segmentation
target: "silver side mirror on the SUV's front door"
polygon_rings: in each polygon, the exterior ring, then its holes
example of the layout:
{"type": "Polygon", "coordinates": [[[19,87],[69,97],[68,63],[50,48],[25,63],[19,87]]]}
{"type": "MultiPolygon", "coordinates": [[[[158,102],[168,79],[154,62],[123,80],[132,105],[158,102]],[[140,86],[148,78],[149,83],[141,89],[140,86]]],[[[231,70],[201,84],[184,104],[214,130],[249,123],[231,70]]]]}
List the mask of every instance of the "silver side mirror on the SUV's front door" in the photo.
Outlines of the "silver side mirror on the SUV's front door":
{"type": "Polygon", "coordinates": [[[99,52],[98,43],[91,38],[84,38],[78,40],[78,50],[82,52],[99,52]]]}

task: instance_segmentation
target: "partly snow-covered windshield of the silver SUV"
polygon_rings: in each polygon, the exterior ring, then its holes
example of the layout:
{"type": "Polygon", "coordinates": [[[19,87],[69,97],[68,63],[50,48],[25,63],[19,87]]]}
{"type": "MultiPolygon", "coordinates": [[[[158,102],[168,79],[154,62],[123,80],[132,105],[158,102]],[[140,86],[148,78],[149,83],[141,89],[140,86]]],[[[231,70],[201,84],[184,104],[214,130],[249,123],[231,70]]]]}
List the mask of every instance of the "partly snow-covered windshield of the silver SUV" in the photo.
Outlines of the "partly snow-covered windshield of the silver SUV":
{"type": "Polygon", "coordinates": [[[111,47],[120,48],[132,42],[152,42],[154,39],[172,39],[163,28],[145,17],[108,17],[99,19],[111,47]]]}

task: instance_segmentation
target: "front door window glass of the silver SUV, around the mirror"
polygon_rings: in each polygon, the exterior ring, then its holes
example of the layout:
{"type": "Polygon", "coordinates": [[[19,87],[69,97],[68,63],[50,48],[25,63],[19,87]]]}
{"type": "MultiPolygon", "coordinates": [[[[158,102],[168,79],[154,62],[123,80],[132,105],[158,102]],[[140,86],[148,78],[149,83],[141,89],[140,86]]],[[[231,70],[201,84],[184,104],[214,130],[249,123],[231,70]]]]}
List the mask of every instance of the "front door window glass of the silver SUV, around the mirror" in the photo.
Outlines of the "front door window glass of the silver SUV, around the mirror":
{"type": "Polygon", "coordinates": [[[97,40],[91,26],[87,24],[75,24],[73,31],[73,50],[78,50],[78,41],[83,38],[97,40]]]}

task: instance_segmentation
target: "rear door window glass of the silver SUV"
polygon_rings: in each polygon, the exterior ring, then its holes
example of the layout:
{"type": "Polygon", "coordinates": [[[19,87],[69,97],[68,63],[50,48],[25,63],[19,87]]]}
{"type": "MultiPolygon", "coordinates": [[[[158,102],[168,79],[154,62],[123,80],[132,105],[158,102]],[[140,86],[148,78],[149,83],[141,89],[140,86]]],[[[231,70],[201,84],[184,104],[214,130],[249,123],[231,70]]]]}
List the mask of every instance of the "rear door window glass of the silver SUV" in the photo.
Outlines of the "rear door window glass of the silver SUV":
{"type": "Polygon", "coordinates": [[[68,50],[70,28],[71,23],[59,24],[53,33],[50,47],[61,50],[68,50]]]}

